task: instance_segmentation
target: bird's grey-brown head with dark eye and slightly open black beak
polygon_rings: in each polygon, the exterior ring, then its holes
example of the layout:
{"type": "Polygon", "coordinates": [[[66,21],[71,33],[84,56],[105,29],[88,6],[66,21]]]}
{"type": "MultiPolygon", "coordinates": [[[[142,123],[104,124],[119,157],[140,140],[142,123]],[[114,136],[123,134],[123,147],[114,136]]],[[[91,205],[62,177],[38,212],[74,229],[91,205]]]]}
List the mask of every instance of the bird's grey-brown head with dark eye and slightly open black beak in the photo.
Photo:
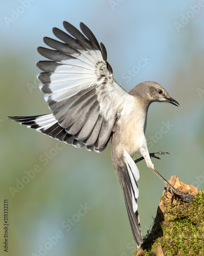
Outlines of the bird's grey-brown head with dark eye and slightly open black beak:
{"type": "Polygon", "coordinates": [[[152,102],[168,102],[179,106],[179,103],[169,96],[164,87],[153,81],[139,83],[129,92],[129,94],[143,98],[143,100],[149,104],[152,102]]]}

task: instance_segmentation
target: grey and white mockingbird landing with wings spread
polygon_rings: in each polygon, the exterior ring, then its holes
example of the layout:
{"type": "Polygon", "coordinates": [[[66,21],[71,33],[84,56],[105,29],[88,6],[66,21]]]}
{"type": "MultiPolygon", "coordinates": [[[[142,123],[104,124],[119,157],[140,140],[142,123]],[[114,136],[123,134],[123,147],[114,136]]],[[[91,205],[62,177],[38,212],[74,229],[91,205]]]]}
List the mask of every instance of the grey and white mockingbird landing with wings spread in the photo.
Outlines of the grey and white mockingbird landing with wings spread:
{"type": "MultiPolygon", "coordinates": [[[[52,114],[10,117],[29,128],[47,134],[78,148],[102,152],[111,138],[112,164],[118,175],[128,212],[133,237],[138,246],[143,242],[138,214],[139,169],[132,157],[141,152],[147,167],[167,184],[172,194],[188,200],[186,194],[174,189],[154,169],[149,154],[145,130],[147,111],[152,102],[169,102],[178,106],[158,83],[139,83],[127,93],[114,80],[106,61],[104,45],[99,45],[94,34],[83,24],[83,33],[64,22],[69,34],[53,28],[61,41],[44,37],[46,45],[38,52],[50,59],[37,62],[42,70],[38,78],[52,114]]],[[[157,157],[156,157],[157,158],[157,157]]]]}

